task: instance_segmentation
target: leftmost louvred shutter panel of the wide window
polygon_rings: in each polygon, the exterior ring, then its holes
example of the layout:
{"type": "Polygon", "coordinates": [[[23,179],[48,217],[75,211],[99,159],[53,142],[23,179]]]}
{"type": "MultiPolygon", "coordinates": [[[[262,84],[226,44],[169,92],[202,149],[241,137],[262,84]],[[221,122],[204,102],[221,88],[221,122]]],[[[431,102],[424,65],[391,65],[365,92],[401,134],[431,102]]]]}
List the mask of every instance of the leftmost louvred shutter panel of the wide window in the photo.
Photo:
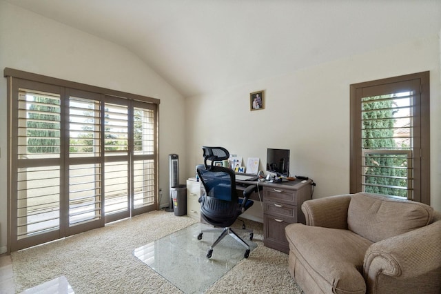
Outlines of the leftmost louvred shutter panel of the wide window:
{"type": "Polygon", "coordinates": [[[11,235],[27,246],[41,235],[59,237],[61,218],[61,92],[59,87],[22,82],[12,150],[15,224],[11,235]]]}

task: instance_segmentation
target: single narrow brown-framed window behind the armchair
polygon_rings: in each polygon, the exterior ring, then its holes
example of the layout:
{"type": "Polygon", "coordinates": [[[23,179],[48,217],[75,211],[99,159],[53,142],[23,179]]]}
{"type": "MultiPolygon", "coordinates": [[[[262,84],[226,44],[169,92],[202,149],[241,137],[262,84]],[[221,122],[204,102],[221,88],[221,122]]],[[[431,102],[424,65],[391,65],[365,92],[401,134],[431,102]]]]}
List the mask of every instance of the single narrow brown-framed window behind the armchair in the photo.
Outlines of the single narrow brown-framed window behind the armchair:
{"type": "Polygon", "coordinates": [[[429,72],[351,85],[351,193],[430,204],[429,72]]]}

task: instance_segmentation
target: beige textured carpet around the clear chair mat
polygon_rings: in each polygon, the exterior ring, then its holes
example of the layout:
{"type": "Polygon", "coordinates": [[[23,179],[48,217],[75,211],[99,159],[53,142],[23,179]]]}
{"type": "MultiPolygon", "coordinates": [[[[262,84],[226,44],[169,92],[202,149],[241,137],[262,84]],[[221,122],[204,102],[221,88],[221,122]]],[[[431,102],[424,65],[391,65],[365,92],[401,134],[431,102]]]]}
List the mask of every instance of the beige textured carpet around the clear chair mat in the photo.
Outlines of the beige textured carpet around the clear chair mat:
{"type": "MultiPolygon", "coordinates": [[[[195,222],[154,211],[12,253],[16,291],[64,275],[76,294],[181,293],[132,253],[195,222]]],[[[247,222],[247,227],[254,229],[258,247],[205,293],[302,293],[287,271],[288,255],[263,246],[262,224],[247,222]]]]}

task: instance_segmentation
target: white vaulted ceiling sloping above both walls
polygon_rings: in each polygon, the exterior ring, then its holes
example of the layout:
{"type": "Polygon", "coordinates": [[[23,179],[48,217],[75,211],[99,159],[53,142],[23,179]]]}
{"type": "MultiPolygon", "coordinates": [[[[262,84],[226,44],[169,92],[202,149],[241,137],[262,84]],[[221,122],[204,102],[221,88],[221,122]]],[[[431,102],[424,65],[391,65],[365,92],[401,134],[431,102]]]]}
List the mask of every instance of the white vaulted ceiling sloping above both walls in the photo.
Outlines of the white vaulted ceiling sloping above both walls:
{"type": "Polygon", "coordinates": [[[440,0],[6,0],[132,51],[184,97],[441,30],[440,0]]]}

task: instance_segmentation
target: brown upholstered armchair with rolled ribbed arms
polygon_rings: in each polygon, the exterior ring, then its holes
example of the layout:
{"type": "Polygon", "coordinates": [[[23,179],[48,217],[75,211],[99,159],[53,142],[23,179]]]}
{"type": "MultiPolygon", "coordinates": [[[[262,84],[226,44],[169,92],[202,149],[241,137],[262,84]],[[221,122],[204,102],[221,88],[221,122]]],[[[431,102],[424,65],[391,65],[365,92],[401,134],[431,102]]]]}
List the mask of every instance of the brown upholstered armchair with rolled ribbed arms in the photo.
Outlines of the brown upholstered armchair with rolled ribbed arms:
{"type": "Polygon", "coordinates": [[[441,293],[441,213],[357,193],[302,205],[285,228],[289,272],[305,293],[441,293]]]}

